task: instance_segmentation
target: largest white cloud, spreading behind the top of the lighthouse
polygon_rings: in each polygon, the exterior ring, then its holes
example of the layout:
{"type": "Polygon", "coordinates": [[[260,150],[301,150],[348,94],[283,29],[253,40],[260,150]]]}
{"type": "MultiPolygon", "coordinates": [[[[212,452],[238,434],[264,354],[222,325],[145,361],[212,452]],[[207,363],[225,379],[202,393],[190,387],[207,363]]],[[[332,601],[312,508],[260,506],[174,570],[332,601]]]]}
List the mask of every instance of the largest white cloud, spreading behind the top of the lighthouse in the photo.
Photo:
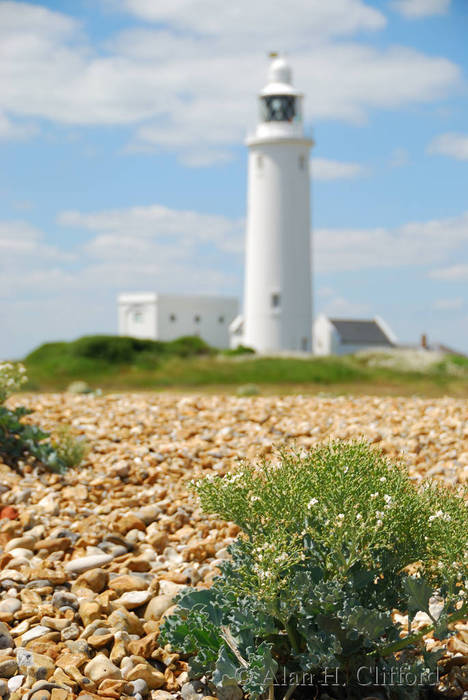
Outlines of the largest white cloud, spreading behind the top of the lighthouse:
{"type": "Polygon", "coordinates": [[[65,14],[0,0],[0,110],[9,130],[17,118],[129,125],[131,148],[170,149],[203,165],[228,159],[254,123],[262,54],[271,48],[290,52],[311,120],[362,123],[371,109],[431,102],[460,81],[445,58],[338,41],[384,25],[361,0],[295,0],[275,12],[266,0],[133,0],[127,7],[155,27],[100,46],[65,14]]]}

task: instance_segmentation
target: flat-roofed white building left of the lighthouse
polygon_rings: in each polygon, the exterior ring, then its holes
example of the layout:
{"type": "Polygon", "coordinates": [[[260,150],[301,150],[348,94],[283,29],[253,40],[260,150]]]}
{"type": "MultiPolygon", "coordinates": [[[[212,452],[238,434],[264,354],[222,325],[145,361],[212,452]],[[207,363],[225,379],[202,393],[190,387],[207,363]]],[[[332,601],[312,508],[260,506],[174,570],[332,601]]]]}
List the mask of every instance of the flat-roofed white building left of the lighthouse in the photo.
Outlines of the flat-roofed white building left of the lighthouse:
{"type": "Polygon", "coordinates": [[[120,294],[118,306],[119,335],[152,340],[198,335],[216,348],[229,347],[229,324],[239,310],[231,297],[153,292],[120,294]]]}

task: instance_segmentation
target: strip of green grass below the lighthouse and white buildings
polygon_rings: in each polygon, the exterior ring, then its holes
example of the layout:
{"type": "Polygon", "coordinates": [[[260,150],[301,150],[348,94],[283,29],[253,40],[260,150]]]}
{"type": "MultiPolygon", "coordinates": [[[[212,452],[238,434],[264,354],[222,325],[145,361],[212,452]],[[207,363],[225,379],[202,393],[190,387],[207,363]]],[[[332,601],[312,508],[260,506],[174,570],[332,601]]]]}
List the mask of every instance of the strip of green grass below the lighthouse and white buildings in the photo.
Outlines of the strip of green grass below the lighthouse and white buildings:
{"type": "Polygon", "coordinates": [[[60,391],[75,380],[113,390],[204,390],[234,393],[256,384],[261,393],[451,394],[468,397],[468,360],[446,356],[420,371],[379,366],[359,356],[257,357],[217,352],[199,338],[164,343],[85,336],[46,343],[24,360],[26,389],[60,391]]]}

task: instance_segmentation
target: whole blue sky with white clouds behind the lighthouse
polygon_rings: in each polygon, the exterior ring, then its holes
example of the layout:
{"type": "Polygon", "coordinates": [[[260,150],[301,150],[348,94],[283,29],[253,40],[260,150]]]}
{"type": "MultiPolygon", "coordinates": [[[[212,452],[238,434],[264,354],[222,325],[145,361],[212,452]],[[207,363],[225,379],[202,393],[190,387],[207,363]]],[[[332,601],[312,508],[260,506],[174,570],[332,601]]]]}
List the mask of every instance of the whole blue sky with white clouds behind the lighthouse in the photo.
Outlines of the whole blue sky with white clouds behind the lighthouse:
{"type": "Polygon", "coordinates": [[[267,53],[306,94],[314,307],[468,352],[466,0],[0,0],[0,357],[120,291],[241,297],[267,53]]]}

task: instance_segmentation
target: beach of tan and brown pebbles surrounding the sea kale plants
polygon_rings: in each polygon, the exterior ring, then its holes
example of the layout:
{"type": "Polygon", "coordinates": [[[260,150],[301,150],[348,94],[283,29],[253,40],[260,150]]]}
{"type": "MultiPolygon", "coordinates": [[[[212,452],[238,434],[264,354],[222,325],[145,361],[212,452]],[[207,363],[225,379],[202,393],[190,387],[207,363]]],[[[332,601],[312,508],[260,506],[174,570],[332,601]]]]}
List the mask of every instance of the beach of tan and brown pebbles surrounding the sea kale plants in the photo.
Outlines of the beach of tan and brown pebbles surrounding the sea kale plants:
{"type": "MultiPolygon", "coordinates": [[[[401,458],[414,481],[468,483],[463,399],[122,393],[9,402],[31,408],[44,430],[72,425],[91,448],[63,476],[26,465],[20,477],[0,462],[0,675],[24,677],[12,700],[26,691],[25,700],[199,700],[200,688],[240,700],[237,686],[195,688],[186,660],[158,646],[174,597],[210,585],[239,531],[201,512],[187,478],[269,458],[279,444],[307,450],[364,437],[401,458]]],[[[451,658],[468,658],[466,622],[452,639],[451,658]]],[[[450,697],[462,695],[465,666],[443,677],[450,697]]],[[[0,680],[0,697],[8,692],[0,680]]]]}

